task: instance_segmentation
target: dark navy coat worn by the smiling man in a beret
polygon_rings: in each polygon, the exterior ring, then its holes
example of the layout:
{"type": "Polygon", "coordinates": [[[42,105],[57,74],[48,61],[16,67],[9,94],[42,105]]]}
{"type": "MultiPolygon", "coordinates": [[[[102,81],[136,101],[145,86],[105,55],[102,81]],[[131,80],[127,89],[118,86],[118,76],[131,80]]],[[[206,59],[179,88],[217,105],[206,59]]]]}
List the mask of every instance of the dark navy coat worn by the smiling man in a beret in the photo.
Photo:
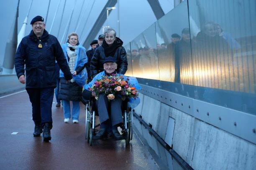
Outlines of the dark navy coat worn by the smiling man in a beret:
{"type": "Polygon", "coordinates": [[[57,71],[55,60],[64,72],[66,80],[72,79],[67,60],[56,37],[46,30],[37,37],[33,30],[21,40],[15,55],[17,77],[25,75],[26,88],[56,87],[57,71]],[[41,44],[42,47],[38,47],[41,44]],[[24,65],[26,68],[24,69],[24,65]]]}

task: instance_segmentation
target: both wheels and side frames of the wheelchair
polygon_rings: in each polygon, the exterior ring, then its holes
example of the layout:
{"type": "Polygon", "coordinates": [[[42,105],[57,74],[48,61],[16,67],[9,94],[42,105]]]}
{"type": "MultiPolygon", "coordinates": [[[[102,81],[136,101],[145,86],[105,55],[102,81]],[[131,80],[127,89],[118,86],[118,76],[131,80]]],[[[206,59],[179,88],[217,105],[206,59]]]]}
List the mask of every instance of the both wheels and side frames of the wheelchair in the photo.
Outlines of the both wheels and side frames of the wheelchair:
{"type": "MultiPolygon", "coordinates": [[[[96,100],[94,97],[91,100],[83,102],[85,105],[85,140],[92,146],[93,136],[95,135],[95,128],[100,126],[100,124],[95,125],[95,116],[97,114],[96,100]]],[[[133,109],[128,107],[128,99],[122,102],[122,115],[123,115],[123,125],[120,126],[122,129],[121,135],[125,139],[125,146],[129,145],[130,141],[133,139],[133,109]]]]}

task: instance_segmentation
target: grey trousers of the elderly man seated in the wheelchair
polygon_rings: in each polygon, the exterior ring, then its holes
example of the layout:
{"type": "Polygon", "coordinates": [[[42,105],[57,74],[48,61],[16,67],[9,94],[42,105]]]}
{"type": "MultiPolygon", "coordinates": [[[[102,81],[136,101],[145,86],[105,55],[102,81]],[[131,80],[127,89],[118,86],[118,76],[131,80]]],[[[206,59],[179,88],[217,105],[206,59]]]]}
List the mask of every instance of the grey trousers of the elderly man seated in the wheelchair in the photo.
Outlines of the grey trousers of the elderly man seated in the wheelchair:
{"type": "Polygon", "coordinates": [[[112,122],[112,126],[117,125],[119,123],[123,123],[122,117],[122,99],[119,96],[115,96],[114,100],[108,101],[108,98],[105,94],[100,94],[97,102],[98,114],[100,117],[100,122],[105,122],[110,119],[112,122]],[[110,102],[110,105],[109,105],[110,102]],[[110,107],[110,108],[108,108],[110,107]],[[108,110],[110,109],[110,115],[108,115],[108,110]]]}

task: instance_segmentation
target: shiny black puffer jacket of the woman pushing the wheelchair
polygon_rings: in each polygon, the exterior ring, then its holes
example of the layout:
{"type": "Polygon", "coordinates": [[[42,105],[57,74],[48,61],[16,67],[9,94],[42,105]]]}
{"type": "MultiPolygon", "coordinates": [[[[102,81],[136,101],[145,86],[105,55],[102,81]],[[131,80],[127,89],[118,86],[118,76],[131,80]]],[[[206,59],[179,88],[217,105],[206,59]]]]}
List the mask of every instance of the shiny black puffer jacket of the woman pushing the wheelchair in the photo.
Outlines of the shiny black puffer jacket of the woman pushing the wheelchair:
{"type": "MultiPolygon", "coordinates": [[[[103,43],[104,41],[105,40],[103,40],[103,43]]],[[[115,55],[112,57],[115,58],[116,63],[118,64],[117,72],[119,74],[125,74],[128,62],[125,48],[122,46],[123,41],[120,40],[118,37],[116,37],[115,41],[117,42],[117,48],[115,50],[115,55]]],[[[104,48],[102,46],[97,47],[91,60],[91,74],[93,77],[97,75],[97,73],[102,72],[104,70],[103,62],[105,60],[105,57],[109,56],[105,55],[104,48]]]]}

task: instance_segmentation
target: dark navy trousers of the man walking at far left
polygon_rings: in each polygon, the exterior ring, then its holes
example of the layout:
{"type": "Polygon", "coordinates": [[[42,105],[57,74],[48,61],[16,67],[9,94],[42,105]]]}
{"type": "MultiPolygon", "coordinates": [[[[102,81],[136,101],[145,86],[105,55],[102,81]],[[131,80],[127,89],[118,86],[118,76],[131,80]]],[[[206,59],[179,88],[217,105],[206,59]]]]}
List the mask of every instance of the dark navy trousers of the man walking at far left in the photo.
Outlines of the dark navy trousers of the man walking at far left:
{"type": "Polygon", "coordinates": [[[32,117],[35,123],[48,122],[52,128],[51,105],[54,97],[54,87],[26,88],[32,103],[32,117]]]}

